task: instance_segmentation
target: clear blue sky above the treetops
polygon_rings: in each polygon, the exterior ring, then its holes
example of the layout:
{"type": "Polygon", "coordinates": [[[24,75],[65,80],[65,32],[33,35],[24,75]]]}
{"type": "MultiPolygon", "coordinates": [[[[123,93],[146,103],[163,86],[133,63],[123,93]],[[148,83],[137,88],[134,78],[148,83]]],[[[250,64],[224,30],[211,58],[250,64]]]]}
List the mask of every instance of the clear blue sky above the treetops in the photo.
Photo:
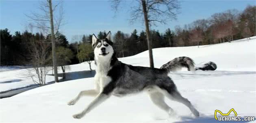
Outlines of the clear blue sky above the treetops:
{"type": "MultiPolygon", "coordinates": [[[[54,0],[53,0],[54,1],[54,0]]],[[[83,35],[108,31],[115,33],[118,30],[131,33],[134,29],[144,29],[139,21],[130,24],[130,6],[127,3],[121,5],[121,9],[114,17],[108,0],[64,0],[66,24],[60,31],[72,42],[73,35],[83,35]]],[[[37,0],[0,0],[0,29],[8,28],[13,34],[15,31],[24,31],[26,21],[25,14],[37,12],[39,5],[37,0]]],[[[180,14],[176,21],[169,21],[167,25],[158,24],[151,29],[174,29],[176,25],[183,27],[197,19],[208,19],[214,13],[220,13],[228,9],[243,10],[247,5],[255,5],[255,0],[183,0],[181,1],[180,14]]]]}

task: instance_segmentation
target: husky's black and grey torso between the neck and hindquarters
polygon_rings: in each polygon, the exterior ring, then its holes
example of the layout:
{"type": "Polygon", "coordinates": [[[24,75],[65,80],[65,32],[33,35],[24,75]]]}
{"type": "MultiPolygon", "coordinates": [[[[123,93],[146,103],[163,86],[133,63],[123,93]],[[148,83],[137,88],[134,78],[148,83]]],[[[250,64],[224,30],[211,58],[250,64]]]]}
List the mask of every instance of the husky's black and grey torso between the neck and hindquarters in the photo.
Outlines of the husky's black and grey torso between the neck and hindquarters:
{"type": "Polygon", "coordinates": [[[118,61],[109,71],[109,76],[115,81],[113,93],[118,96],[134,94],[152,86],[168,88],[169,91],[176,88],[166,69],[132,66],[118,61]]]}

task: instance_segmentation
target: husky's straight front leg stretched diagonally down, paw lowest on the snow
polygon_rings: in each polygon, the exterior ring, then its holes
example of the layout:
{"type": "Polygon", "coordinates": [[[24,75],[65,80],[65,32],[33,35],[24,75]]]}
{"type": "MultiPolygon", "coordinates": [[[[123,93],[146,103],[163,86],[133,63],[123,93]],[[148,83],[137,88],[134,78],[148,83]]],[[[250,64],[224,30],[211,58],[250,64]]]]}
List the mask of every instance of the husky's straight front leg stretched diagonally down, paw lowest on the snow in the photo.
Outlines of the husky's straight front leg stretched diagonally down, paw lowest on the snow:
{"type": "Polygon", "coordinates": [[[104,102],[110,95],[100,93],[98,96],[83,110],[81,113],[73,115],[74,118],[80,119],[85,116],[85,114],[89,113],[93,108],[104,102]]]}

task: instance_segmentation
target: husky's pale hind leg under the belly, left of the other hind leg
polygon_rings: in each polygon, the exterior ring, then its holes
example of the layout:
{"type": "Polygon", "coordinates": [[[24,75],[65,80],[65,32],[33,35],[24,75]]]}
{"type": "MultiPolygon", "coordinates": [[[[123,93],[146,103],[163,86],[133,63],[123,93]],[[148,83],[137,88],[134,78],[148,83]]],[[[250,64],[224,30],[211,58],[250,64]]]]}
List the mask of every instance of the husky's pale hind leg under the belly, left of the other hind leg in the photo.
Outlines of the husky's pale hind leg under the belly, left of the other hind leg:
{"type": "Polygon", "coordinates": [[[165,110],[169,115],[175,114],[174,110],[165,103],[164,95],[161,92],[149,92],[149,96],[156,106],[165,110]]]}

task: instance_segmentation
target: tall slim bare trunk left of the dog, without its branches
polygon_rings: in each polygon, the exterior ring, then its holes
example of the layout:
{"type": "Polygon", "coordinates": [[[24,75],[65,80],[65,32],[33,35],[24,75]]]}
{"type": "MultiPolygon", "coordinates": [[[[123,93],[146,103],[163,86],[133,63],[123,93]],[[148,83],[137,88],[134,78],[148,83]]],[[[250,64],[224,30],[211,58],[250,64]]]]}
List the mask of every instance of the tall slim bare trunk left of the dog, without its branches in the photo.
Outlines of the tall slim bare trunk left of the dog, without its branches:
{"type": "Polygon", "coordinates": [[[58,71],[57,71],[57,60],[56,60],[56,49],[55,49],[55,35],[54,35],[54,25],[53,25],[53,14],[52,14],[52,0],[49,0],[50,9],[50,23],[51,23],[51,38],[52,38],[52,62],[54,68],[54,78],[55,82],[59,82],[58,71]]]}

